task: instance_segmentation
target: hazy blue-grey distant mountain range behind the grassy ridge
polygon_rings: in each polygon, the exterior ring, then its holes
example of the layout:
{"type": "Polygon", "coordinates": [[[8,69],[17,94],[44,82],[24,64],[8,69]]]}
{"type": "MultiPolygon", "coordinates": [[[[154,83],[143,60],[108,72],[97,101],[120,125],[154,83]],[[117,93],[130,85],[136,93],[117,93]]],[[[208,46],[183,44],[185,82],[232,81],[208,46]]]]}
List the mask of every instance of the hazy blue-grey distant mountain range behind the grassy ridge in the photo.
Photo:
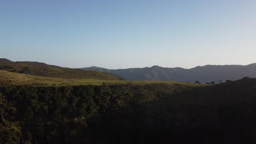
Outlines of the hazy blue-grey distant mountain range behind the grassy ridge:
{"type": "Polygon", "coordinates": [[[191,69],[162,68],[157,65],[146,68],[104,69],[98,67],[82,68],[117,74],[126,80],[136,81],[185,81],[201,83],[222,80],[238,80],[242,77],[256,77],[256,64],[249,65],[205,65],[191,69]]]}

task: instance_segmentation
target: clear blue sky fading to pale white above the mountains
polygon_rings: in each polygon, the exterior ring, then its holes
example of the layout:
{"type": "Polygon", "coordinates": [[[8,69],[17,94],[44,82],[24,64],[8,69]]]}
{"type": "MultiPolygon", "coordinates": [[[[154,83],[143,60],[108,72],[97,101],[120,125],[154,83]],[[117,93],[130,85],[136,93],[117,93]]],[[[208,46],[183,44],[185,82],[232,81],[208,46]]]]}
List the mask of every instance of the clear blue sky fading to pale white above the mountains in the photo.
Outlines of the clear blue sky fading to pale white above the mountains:
{"type": "Polygon", "coordinates": [[[256,63],[256,1],[0,0],[0,58],[108,69],[256,63]]]}

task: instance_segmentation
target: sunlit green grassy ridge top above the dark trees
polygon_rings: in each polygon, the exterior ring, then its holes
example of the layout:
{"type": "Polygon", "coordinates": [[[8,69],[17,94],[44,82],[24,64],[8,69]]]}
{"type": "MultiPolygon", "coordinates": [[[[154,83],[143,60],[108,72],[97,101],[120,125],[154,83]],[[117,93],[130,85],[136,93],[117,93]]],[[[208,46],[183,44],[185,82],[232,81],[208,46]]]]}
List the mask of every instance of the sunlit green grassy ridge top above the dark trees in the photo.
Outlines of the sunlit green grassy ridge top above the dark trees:
{"type": "Polygon", "coordinates": [[[107,85],[114,84],[149,84],[169,83],[197,86],[194,83],[173,82],[173,81],[125,81],[125,80],[97,80],[97,79],[56,79],[51,77],[33,76],[27,74],[12,73],[0,70],[0,85],[31,85],[31,86],[78,86],[78,85],[107,85]]]}

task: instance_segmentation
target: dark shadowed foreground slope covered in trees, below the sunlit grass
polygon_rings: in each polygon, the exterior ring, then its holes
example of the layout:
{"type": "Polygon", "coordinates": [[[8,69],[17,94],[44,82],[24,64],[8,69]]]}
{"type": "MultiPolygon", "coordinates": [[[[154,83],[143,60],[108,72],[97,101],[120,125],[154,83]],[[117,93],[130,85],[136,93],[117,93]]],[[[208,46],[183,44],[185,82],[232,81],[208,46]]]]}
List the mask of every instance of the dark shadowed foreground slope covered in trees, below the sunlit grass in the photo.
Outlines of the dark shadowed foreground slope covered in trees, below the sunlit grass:
{"type": "Polygon", "coordinates": [[[0,143],[256,142],[255,79],[0,89],[0,143]]]}

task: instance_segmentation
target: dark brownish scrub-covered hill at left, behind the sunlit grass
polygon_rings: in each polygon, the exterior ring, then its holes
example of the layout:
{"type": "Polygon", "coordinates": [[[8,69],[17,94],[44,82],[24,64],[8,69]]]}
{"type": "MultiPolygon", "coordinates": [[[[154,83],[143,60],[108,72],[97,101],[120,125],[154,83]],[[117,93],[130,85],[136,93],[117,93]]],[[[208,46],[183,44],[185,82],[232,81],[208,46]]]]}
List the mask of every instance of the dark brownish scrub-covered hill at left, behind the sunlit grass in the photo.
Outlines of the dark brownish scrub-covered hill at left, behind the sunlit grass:
{"type": "Polygon", "coordinates": [[[48,65],[39,62],[11,62],[8,59],[0,59],[0,70],[35,76],[54,77],[60,79],[100,79],[122,80],[118,75],[101,73],[96,71],[84,71],[48,65]]]}

